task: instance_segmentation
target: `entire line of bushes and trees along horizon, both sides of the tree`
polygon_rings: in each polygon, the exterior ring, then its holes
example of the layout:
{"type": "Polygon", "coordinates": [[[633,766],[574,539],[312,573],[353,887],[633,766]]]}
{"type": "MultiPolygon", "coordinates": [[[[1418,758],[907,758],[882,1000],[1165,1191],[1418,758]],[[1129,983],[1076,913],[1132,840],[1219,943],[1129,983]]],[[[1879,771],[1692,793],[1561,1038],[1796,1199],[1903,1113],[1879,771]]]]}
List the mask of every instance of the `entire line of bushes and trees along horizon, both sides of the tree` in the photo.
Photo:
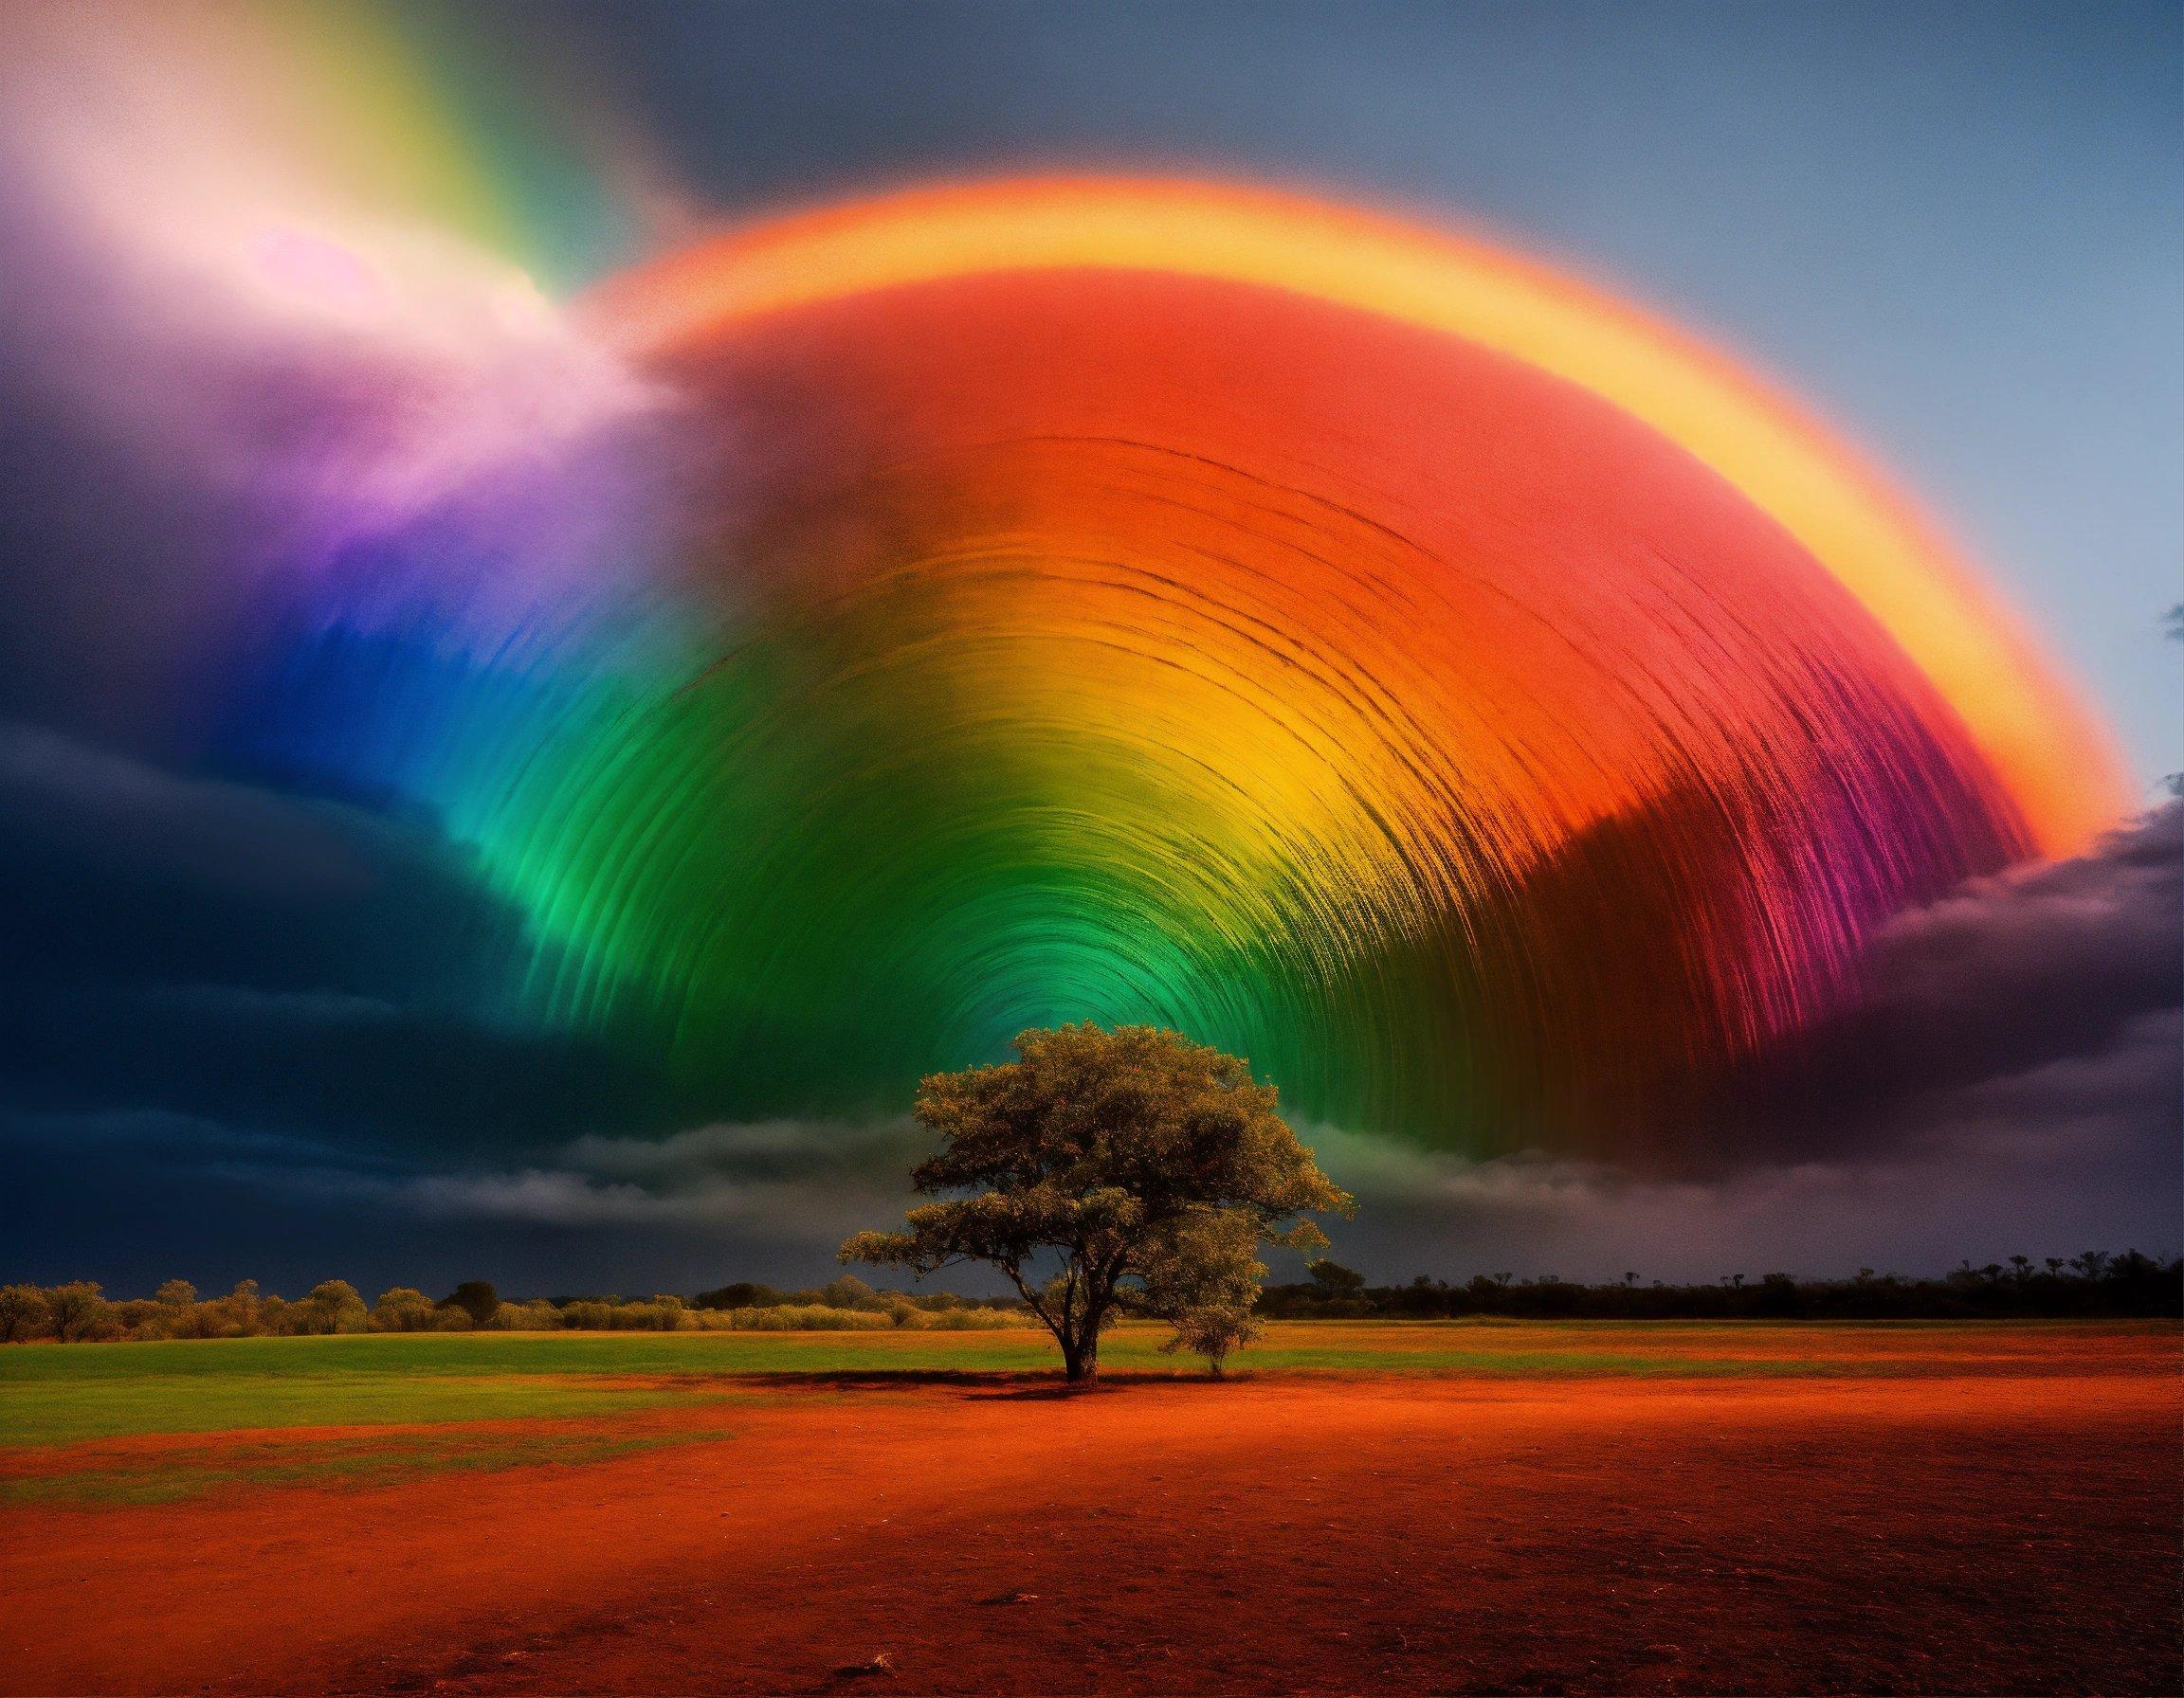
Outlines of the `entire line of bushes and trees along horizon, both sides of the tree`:
{"type": "MultiPolygon", "coordinates": [[[[1313,1264],[1313,1279],[1269,1286],[1258,1301],[1269,1320],[1887,1320],[1887,1318],[2038,1318],[2180,1316],[2184,1259],[2138,1251],[2086,1251],[2075,1257],[2014,1255],[2009,1264],[1970,1264],[1939,1279],[1907,1279],[1861,1268],[1850,1279],[1800,1281],[1730,1275],[1708,1286],[1572,1283],[1544,1275],[1476,1275],[1463,1286],[1420,1275],[1409,1286],[1367,1286],[1334,1261],[1313,1264]]],[[[288,1301],[240,1281],[227,1296],[199,1299],[170,1279],[149,1299],[109,1299],[92,1281],[0,1288],[0,1342],[116,1342],[155,1338],[284,1338],[356,1331],[985,1331],[1035,1327],[1022,1303],[954,1292],[882,1292],[854,1275],[815,1290],[782,1292],[734,1283],[695,1299],[563,1296],[502,1301],[485,1281],[441,1301],[397,1286],[367,1305],[343,1279],[288,1301]]]]}

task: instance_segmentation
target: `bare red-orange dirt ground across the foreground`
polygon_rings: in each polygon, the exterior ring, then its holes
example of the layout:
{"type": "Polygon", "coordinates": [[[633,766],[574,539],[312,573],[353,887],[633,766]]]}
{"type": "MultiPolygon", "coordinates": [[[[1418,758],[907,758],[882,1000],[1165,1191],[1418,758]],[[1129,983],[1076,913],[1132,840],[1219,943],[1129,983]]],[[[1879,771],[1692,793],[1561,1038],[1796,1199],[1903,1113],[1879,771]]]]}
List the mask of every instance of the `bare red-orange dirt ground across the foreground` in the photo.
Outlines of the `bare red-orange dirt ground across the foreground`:
{"type": "Polygon", "coordinates": [[[0,1687],[2175,1691],[2175,1349],[2136,1351],[786,1388],[585,1467],[17,1508],[0,1687]]]}

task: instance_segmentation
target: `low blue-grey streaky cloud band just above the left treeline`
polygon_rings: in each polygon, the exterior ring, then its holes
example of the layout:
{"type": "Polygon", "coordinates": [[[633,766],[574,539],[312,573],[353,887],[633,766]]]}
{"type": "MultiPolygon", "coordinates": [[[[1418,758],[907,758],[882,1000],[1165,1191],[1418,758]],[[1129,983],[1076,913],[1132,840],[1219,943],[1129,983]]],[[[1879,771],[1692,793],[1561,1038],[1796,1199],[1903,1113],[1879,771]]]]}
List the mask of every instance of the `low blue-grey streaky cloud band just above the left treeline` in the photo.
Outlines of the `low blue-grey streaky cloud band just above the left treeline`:
{"type": "Polygon", "coordinates": [[[280,1290],[330,1272],[432,1290],[480,1272],[533,1292],[804,1286],[847,1233],[915,1200],[924,1152],[906,1120],[585,1135],[465,1161],[173,1113],[0,1111],[0,1157],[39,1198],[9,1233],[20,1270],[146,1290],[177,1268],[280,1290]]]}

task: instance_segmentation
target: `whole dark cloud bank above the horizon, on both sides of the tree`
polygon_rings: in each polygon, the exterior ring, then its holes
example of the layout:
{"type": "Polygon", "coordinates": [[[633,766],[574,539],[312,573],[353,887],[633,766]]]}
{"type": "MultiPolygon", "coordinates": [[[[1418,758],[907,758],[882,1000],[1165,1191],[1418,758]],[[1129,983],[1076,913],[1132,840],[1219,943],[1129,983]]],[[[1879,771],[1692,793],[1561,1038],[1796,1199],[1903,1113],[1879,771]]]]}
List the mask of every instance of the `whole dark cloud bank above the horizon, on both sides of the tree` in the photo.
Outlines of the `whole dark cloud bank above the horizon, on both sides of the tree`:
{"type": "MultiPolygon", "coordinates": [[[[1374,1275],[1926,1270],[2175,1251],[2184,805],[1902,917],[1673,1176],[1308,1128],[1374,1275]]],[[[515,921],[430,829],[0,725],[13,1277],[806,1281],[915,1128],[690,1124],[491,1013],[515,921]]]]}

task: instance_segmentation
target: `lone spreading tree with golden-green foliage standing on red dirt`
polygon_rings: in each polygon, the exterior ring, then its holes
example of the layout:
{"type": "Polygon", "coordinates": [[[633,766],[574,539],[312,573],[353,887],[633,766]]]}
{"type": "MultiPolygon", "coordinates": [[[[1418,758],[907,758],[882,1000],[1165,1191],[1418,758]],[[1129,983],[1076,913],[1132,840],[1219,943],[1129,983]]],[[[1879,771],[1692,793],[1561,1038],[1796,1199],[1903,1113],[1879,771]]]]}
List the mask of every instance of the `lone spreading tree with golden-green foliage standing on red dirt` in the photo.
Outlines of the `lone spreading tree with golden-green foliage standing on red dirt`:
{"type": "Polygon", "coordinates": [[[919,1277],[994,1264],[1072,1384],[1099,1375],[1099,1336],[1118,1314],[1171,1320],[1219,1368],[1251,1334],[1265,1272],[1251,1251],[1324,1246],[1302,1216],[1348,1213],[1350,1194],[1236,1056],[1092,1021],[1022,1032],[1016,1054],[917,1087],[913,1113],[941,1150],[911,1181],[943,1200],[911,1209],[906,1231],[858,1233],[841,1259],[919,1277]]]}

